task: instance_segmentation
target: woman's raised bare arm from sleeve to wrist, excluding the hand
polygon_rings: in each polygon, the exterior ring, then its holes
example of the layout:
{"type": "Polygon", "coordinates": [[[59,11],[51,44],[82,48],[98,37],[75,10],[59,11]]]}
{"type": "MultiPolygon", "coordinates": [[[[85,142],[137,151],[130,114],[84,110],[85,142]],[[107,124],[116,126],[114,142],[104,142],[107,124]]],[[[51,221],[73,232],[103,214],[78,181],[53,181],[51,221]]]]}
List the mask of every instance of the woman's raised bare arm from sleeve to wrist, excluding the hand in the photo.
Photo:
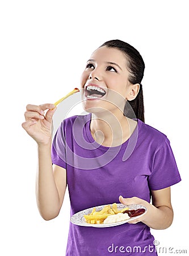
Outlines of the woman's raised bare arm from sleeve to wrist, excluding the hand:
{"type": "Polygon", "coordinates": [[[53,164],[51,143],[38,146],[38,170],[36,175],[37,207],[44,220],[58,216],[66,191],[66,170],[53,164]]]}

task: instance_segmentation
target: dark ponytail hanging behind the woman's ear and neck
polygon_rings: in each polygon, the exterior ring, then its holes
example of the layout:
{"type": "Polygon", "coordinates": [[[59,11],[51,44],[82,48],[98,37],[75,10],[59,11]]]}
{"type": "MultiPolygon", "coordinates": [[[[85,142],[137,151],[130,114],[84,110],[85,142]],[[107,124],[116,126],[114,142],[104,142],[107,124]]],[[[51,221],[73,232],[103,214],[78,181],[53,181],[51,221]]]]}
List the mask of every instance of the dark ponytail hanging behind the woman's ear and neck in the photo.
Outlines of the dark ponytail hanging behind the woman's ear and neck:
{"type": "Polygon", "coordinates": [[[126,117],[133,118],[133,113],[131,113],[131,107],[129,110],[128,104],[132,107],[136,118],[140,119],[142,122],[144,122],[144,99],[143,99],[143,91],[142,91],[142,85],[140,84],[140,89],[137,94],[137,97],[135,100],[127,101],[124,108],[124,115],[126,117]]]}

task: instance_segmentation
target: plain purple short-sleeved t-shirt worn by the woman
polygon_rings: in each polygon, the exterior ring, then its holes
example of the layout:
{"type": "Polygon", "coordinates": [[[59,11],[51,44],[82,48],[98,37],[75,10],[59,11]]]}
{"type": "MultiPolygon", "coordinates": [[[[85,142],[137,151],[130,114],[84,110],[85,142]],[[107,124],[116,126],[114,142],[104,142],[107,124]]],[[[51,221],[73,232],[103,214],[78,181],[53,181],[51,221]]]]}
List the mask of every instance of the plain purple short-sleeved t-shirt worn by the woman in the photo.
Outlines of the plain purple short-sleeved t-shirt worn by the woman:
{"type": "MultiPolygon", "coordinates": [[[[137,119],[128,141],[116,147],[96,143],[91,114],[62,121],[53,140],[52,162],[66,169],[71,216],[98,205],[120,203],[119,196],[150,202],[150,191],[180,181],[166,135],[137,119]]],[[[70,222],[66,256],[157,255],[150,228],[138,222],[110,228],[70,222]]]]}

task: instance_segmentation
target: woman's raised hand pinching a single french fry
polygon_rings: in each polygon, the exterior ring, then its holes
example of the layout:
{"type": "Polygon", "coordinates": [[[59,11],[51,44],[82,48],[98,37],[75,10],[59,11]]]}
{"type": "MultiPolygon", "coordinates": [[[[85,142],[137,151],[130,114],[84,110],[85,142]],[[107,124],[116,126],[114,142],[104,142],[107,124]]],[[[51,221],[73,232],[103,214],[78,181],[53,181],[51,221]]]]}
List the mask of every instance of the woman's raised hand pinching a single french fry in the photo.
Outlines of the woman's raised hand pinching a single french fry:
{"type": "Polygon", "coordinates": [[[51,122],[55,110],[53,104],[26,106],[26,122],[22,123],[22,127],[37,144],[45,145],[51,142],[51,122]],[[48,110],[46,114],[45,110],[48,110]]]}

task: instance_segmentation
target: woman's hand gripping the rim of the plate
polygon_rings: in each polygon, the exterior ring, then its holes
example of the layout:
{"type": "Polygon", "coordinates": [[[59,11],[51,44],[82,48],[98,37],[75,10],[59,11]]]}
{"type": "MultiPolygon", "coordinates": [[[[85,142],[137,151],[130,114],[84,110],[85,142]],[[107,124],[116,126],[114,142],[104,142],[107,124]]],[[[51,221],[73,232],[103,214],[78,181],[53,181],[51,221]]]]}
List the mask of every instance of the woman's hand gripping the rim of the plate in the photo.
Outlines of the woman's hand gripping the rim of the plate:
{"type": "Polygon", "coordinates": [[[146,220],[146,218],[148,218],[148,214],[150,212],[150,208],[152,207],[152,205],[149,204],[147,201],[140,199],[138,197],[123,198],[123,196],[119,196],[119,201],[121,204],[124,204],[124,205],[141,204],[147,209],[147,212],[143,216],[138,217],[136,220],[128,221],[128,223],[136,224],[137,222],[140,222],[140,221],[143,222],[146,220]]]}

